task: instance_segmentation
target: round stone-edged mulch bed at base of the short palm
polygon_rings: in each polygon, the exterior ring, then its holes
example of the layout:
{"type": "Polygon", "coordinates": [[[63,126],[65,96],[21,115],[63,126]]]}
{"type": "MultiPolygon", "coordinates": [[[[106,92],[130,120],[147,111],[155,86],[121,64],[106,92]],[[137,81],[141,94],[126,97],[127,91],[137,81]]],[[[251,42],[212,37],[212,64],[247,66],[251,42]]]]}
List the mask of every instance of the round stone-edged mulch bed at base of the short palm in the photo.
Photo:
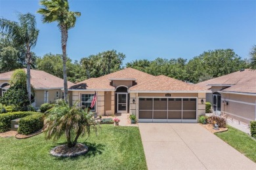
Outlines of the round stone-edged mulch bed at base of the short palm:
{"type": "Polygon", "coordinates": [[[87,151],[88,147],[85,144],[77,143],[72,148],[69,148],[67,144],[62,144],[53,148],[51,154],[58,157],[73,157],[85,154],[87,151]]]}

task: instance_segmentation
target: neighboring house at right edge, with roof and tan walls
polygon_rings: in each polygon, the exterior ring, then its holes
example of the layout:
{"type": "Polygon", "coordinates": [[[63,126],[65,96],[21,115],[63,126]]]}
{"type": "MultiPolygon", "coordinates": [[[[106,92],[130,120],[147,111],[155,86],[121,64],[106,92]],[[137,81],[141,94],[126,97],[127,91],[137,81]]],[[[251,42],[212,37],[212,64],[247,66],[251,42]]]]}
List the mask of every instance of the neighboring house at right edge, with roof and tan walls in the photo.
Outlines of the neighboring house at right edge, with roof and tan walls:
{"type": "Polygon", "coordinates": [[[216,114],[226,114],[245,123],[256,120],[256,71],[242,69],[197,85],[211,90],[206,101],[216,114]]]}

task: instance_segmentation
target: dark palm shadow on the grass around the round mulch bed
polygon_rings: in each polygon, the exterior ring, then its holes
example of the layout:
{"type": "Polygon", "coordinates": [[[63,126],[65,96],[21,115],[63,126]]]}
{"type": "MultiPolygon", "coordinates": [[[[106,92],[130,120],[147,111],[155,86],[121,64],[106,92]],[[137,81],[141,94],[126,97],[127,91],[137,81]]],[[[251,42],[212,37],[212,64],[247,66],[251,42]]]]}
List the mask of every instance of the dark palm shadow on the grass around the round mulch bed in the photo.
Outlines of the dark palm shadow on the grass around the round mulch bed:
{"type": "MultiPolygon", "coordinates": [[[[61,144],[66,144],[66,143],[58,143],[58,145],[61,144]]],[[[102,152],[104,151],[104,144],[96,144],[96,143],[83,143],[88,147],[88,152],[86,154],[83,154],[81,156],[75,156],[75,157],[68,157],[68,158],[64,158],[64,157],[55,157],[55,160],[66,160],[66,159],[70,159],[70,160],[77,160],[78,158],[91,158],[93,156],[96,155],[100,155],[102,154],[102,152]]],[[[56,145],[56,146],[58,146],[56,145]]]]}

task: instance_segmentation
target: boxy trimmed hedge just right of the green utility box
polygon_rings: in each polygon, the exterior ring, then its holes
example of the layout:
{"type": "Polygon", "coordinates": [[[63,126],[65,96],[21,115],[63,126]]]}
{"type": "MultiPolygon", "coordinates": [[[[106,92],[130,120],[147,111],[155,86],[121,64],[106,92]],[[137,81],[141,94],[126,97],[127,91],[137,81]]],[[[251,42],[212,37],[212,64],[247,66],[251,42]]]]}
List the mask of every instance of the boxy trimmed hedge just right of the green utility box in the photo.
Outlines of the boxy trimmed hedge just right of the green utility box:
{"type": "Polygon", "coordinates": [[[18,133],[28,135],[43,128],[43,114],[37,113],[24,118],[18,122],[18,133]]]}

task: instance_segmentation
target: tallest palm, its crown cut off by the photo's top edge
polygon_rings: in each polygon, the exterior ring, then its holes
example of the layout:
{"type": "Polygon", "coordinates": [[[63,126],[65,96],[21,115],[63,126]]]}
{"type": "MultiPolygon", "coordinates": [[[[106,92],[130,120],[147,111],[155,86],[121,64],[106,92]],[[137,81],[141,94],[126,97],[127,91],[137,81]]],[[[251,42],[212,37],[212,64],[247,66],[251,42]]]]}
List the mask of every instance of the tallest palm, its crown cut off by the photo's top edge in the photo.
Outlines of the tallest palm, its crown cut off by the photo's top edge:
{"type": "Polygon", "coordinates": [[[37,10],[43,15],[43,23],[57,22],[61,33],[63,79],[64,79],[64,99],[68,102],[68,79],[66,73],[66,46],[68,41],[68,29],[75,26],[76,17],[81,16],[80,12],[70,11],[68,0],[41,0],[43,9],[37,10]]]}

